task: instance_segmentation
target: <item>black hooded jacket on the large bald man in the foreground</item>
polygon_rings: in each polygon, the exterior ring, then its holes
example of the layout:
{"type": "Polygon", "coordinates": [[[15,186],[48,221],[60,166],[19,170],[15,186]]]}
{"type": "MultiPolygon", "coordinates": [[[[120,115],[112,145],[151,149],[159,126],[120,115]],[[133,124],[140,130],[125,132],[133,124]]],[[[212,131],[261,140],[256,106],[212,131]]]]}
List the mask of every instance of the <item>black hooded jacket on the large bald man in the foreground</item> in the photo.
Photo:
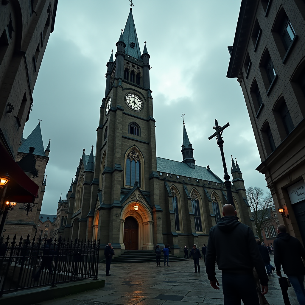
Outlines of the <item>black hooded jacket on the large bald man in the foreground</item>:
{"type": "Polygon", "coordinates": [[[255,267],[261,285],[267,285],[268,276],[253,231],[235,216],[224,216],[210,229],[206,248],[206,273],[215,280],[215,260],[224,273],[253,273],[255,267]],[[242,246],[241,246],[242,245],[242,246]]]}

